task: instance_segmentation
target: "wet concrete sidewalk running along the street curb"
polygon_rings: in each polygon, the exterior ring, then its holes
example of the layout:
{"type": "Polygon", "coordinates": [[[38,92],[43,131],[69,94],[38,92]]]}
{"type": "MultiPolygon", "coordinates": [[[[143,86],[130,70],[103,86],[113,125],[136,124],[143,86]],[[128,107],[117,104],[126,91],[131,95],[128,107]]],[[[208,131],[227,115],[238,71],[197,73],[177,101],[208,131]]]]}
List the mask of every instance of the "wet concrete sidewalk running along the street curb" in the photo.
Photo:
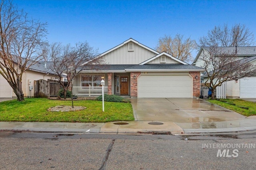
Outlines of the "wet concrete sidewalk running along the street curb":
{"type": "MultiPolygon", "coordinates": [[[[120,122],[119,122],[120,123],[120,122]]],[[[29,130],[34,132],[77,132],[77,133],[137,133],[171,132],[172,134],[216,133],[256,130],[256,116],[234,121],[207,123],[170,123],[150,125],[149,121],[127,121],[127,125],[110,123],[43,123],[43,122],[0,122],[0,130],[29,130]]]]}

